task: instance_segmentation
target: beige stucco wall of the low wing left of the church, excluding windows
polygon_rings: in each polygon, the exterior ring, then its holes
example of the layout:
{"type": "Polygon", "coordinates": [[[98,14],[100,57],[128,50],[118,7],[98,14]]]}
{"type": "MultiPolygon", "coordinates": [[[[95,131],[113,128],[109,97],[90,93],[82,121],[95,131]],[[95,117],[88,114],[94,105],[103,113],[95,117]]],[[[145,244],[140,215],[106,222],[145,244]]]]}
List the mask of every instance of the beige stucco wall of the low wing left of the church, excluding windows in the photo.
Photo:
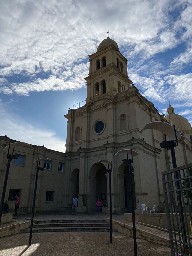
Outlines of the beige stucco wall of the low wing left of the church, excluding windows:
{"type": "MultiPolygon", "coordinates": [[[[9,142],[15,141],[8,137],[0,136],[0,149],[8,145],[9,142]]],[[[21,190],[20,194],[20,206],[19,213],[31,212],[32,201],[34,193],[34,183],[36,177],[36,168],[33,166],[33,162],[37,158],[47,157],[53,160],[51,170],[39,171],[36,205],[35,210],[38,211],[58,211],[65,210],[66,208],[66,196],[63,192],[63,187],[67,184],[67,171],[58,172],[59,162],[65,163],[64,153],[54,150],[46,149],[42,146],[33,146],[34,149],[27,147],[15,147],[15,154],[25,155],[25,165],[15,165],[11,161],[9,177],[7,182],[7,189],[5,194],[5,201],[8,201],[10,189],[21,190]],[[46,191],[55,191],[54,201],[46,202],[46,191]],[[62,191],[62,192],[61,192],[62,191]]],[[[5,153],[0,154],[0,196],[3,189],[3,181],[5,177],[7,158],[5,153]],[[1,161],[2,160],[2,161],[1,161]]],[[[43,166],[43,162],[41,162],[43,166]]],[[[9,209],[14,212],[15,200],[8,201],[9,209]]]]}

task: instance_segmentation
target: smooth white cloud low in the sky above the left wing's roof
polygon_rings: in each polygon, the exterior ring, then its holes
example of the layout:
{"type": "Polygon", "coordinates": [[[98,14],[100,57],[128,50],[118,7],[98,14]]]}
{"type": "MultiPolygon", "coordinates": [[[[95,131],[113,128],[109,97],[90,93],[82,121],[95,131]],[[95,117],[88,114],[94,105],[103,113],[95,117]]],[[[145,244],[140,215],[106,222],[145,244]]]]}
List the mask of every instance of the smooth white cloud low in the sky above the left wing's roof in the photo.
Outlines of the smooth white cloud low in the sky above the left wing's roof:
{"type": "Polygon", "coordinates": [[[1,131],[0,135],[27,142],[33,145],[44,145],[46,148],[65,152],[66,141],[56,136],[53,131],[40,129],[27,123],[21,117],[10,114],[3,105],[0,105],[1,131]]]}

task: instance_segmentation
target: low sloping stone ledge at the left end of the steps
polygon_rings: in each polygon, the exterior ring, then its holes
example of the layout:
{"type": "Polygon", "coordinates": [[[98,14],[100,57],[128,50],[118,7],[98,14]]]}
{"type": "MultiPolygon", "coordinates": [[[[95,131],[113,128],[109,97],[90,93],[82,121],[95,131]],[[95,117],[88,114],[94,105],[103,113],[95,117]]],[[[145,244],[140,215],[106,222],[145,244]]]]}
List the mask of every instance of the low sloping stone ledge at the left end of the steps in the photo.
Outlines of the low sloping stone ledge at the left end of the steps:
{"type": "MultiPolygon", "coordinates": [[[[35,219],[33,221],[33,224],[37,223],[37,219],[35,219]]],[[[21,230],[29,228],[31,224],[31,220],[30,221],[25,221],[25,222],[21,222],[21,223],[17,223],[17,224],[13,224],[7,227],[2,227],[0,228],[0,237],[3,236],[10,236],[13,234],[17,234],[20,233],[21,230]]]]}

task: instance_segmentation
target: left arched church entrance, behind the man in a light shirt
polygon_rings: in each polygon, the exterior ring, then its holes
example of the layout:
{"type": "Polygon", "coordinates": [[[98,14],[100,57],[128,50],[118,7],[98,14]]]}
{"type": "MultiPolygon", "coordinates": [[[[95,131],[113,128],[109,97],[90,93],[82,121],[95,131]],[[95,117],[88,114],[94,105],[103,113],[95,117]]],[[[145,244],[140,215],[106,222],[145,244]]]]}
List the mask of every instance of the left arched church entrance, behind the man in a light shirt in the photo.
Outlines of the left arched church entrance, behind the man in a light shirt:
{"type": "Polygon", "coordinates": [[[79,194],[79,169],[75,169],[71,173],[70,181],[70,198],[69,203],[72,202],[72,197],[75,195],[78,198],[79,194]]]}

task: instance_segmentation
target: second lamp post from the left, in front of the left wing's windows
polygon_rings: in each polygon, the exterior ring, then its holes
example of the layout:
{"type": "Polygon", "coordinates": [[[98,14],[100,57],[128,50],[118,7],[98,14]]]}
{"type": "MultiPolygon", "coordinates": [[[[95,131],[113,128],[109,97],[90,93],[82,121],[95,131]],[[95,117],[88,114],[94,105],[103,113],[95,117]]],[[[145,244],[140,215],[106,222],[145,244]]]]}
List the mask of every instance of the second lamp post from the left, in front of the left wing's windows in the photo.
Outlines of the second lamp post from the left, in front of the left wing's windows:
{"type": "Polygon", "coordinates": [[[49,158],[45,158],[45,157],[42,157],[42,158],[38,158],[37,160],[35,160],[33,162],[33,164],[35,162],[37,162],[37,166],[36,166],[36,179],[35,179],[35,188],[34,188],[34,195],[33,195],[33,205],[32,205],[32,217],[31,217],[31,225],[30,225],[30,233],[29,233],[29,246],[31,245],[31,239],[32,239],[32,229],[33,229],[33,219],[34,219],[34,213],[35,213],[35,201],[36,201],[36,193],[37,193],[37,181],[38,181],[38,174],[39,174],[39,171],[43,171],[44,168],[43,167],[40,167],[40,161],[42,160],[49,160],[51,162],[53,162],[53,160],[49,159],[49,158]]]}

